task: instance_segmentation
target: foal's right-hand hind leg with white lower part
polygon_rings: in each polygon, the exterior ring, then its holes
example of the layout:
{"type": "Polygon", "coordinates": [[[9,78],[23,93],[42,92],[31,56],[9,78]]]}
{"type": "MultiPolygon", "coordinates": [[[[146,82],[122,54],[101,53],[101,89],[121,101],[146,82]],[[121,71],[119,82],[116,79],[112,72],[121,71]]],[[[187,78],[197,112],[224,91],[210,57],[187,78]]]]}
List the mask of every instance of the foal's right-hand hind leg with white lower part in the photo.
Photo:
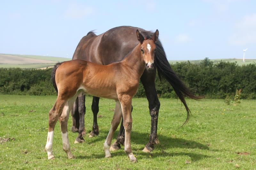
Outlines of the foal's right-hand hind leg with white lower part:
{"type": "Polygon", "coordinates": [[[63,111],[59,117],[63,150],[67,153],[68,159],[74,158],[74,155],[71,153],[70,144],[68,140],[68,117],[75,99],[76,99],[76,96],[66,102],[63,108],[63,111]]]}

